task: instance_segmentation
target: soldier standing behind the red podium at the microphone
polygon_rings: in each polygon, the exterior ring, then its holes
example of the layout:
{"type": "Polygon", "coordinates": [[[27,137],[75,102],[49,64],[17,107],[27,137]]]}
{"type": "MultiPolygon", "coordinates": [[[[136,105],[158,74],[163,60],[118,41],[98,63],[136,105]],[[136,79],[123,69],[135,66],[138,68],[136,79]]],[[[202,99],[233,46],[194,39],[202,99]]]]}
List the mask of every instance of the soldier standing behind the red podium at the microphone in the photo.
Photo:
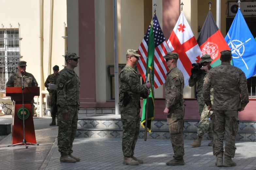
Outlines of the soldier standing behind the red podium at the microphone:
{"type": "MultiPolygon", "coordinates": [[[[23,85],[24,87],[37,87],[38,83],[35,79],[35,77],[31,74],[26,72],[26,65],[27,62],[25,61],[19,61],[18,62],[18,70],[19,72],[13,73],[11,77],[9,78],[8,82],[6,83],[6,87],[21,87],[22,86],[22,76],[21,72],[23,71],[23,85]]],[[[12,98],[11,98],[12,100],[12,98]]],[[[13,101],[13,100],[12,100],[13,101]]],[[[34,99],[31,100],[31,115],[34,116],[34,99]]],[[[13,117],[12,112],[12,117],[13,117]]]]}

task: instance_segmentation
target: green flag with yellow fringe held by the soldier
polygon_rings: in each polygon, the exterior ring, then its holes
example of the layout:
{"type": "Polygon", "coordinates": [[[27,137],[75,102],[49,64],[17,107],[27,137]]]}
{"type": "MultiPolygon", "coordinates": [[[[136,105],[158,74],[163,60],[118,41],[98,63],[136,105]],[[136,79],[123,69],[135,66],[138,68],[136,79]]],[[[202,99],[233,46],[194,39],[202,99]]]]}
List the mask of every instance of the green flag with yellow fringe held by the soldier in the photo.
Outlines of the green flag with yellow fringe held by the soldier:
{"type": "Polygon", "coordinates": [[[154,104],[154,52],[155,52],[155,40],[154,40],[154,33],[153,33],[153,27],[152,23],[150,26],[150,33],[149,33],[149,43],[148,43],[148,55],[147,55],[147,67],[146,67],[146,82],[150,82],[151,89],[150,89],[150,95],[149,99],[143,100],[143,109],[142,109],[142,115],[141,115],[141,126],[145,128],[146,124],[146,111],[148,110],[148,126],[147,130],[151,132],[151,123],[152,119],[154,118],[155,113],[155,104],[154,104]],[[148,68],[150,68],[150,76],[148,77],[148,68]],[[148,108],[147,107],[147,102],[148,108]]]}

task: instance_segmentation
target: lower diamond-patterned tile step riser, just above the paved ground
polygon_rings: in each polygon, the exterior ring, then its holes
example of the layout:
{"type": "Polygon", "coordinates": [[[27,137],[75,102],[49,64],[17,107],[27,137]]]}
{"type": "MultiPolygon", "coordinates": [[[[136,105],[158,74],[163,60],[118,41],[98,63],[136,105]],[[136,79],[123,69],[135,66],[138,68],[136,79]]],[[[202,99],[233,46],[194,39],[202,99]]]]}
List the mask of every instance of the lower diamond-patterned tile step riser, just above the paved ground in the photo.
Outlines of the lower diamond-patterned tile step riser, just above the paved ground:
{"type": "MultiPolygon", "coordinates": [[[[121,128],[78,128],[76,137],[93,137],[93,138],[122,138],[121,128]]],[[[139,138],[144,138],[145,129],[140,129],[139,138]]],[[[197,138],[196,130],[184,129],[184,139],[195,140],[197,138]]],[[[147,139],[170,139],[169,129],[152,129],[151,133],[147,132],[147,139]]],[[[208,134],[205,134],[203,140],[211,140],[208,134]]],[[[224,136],[225,140],[225,136],[224,136]]],[[[236,141],[256,141],[255,131],[238,131],[236,141]]]]}

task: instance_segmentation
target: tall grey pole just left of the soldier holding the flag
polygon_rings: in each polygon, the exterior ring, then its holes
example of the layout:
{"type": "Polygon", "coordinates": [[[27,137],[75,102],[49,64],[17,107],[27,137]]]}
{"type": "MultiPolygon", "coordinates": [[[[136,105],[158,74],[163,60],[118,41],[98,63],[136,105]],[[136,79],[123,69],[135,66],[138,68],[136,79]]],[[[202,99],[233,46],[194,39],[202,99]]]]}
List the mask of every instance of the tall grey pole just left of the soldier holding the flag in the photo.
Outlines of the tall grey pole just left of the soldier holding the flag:
{"type": "Polygon", "coordinates": [[[117,37],[117,0],[114,5],[114,67],[115,67],[115,115],[119,115],[119,75],[118,75],[118,37],[117,37]]]}

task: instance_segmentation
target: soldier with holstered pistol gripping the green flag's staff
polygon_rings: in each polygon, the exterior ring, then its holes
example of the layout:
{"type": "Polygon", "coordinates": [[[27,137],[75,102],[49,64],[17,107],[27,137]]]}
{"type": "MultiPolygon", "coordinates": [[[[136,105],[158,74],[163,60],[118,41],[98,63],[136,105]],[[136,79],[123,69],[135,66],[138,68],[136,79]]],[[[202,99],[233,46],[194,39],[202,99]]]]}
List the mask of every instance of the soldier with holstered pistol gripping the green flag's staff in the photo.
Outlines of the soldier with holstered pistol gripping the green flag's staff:
{"type": "Polygon", "coordinates": [[[119,75],[119,107],[123,124],[123,164],[129,165],[143,163],[143,160],[134,156],[134,149],[139,136],[140,97],[146,99],[151,87],[150,83],[140,85],[139,76],[134,69],[138,63],[139,56],[138,51],[128,49],[126,54],[127,64],[119,75]]]}

